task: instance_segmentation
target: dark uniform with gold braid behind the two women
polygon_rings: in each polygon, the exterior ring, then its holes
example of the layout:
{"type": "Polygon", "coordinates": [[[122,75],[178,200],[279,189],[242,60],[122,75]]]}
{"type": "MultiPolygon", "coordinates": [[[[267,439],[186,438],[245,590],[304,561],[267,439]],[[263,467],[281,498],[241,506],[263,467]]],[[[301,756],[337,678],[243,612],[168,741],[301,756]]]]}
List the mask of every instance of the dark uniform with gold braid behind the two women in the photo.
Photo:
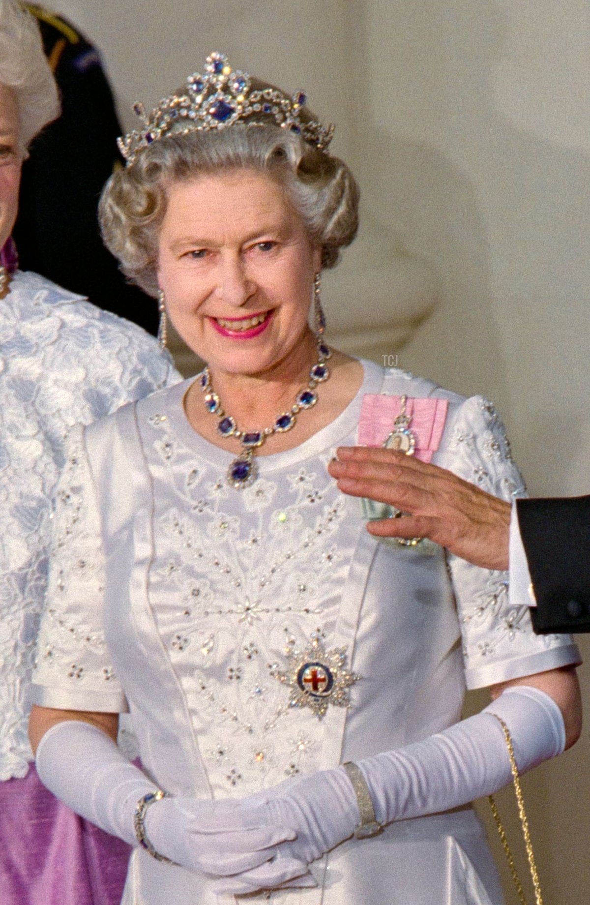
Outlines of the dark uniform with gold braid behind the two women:
{"type": "Polygon", "coordinates": [[[100,308],[157,332],[153,300],[129,286],[104,248],[97,222],[102,186],[120,165],[121,127],[96,49],[61,16],[27,4],[62,97],[62,116],[25,161],[14,241],[20,266],[88,296],[100,308]]]}

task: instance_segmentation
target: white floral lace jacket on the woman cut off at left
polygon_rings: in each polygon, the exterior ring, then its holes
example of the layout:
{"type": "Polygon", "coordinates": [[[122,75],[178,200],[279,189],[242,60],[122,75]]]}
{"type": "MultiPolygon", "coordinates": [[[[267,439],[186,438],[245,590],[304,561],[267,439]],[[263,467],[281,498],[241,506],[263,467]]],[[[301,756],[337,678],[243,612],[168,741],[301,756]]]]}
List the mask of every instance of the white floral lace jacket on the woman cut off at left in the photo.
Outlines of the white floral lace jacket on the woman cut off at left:
{"type": "Polygon", "coordinates": [[[0,779],[32,759],[27,692],[63,438],[177,379],[154,338],[36,273],[17,271],[0,301],[0,779]]]}

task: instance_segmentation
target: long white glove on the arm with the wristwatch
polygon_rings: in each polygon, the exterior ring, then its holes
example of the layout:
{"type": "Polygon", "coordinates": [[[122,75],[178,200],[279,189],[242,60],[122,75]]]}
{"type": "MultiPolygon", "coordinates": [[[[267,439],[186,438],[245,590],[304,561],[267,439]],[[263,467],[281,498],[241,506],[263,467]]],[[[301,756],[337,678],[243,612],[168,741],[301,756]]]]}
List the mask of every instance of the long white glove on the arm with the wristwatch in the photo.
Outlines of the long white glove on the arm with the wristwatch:
{"type": "MultiPolygon", "coordinates": [[[[509,755],[494,714],[509,728],[520,773],[565,747],[564,720],[556,702],[536,688],[511,687],[481,713],[443,732],[360,760],[377,821],[388,824],[436,814],[506,786],[512,778],[509,755]]],[[[237,812],[242,820],[243,809],[250,809],[260,824],[296,831],[294,842],[279,846],[278,861],[284,856],[309,864],[352,835],[359,821],[355,791],[343,767],[288,780],[269,793],[243,799],[237,812]]],[[[288,882],[287,874],[281,873],[283,882],[288,882]]],[[[271,875],[262,864],[218,881],[214,889],[244,893],[269,887],[271,875]]]]}

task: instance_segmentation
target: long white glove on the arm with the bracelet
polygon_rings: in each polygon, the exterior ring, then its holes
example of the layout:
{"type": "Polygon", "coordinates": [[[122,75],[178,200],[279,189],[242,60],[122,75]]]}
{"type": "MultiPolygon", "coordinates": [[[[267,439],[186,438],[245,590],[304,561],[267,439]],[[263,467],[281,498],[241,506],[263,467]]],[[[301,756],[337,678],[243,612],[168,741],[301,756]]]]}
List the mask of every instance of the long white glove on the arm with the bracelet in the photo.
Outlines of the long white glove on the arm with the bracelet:
{"type": "MultiPolygon", "coordinates": [[[[133,814],[138,801],[155,787],[99,728],[74,720],[56,724],[39,745],[37,769],[45,785],[78,814],[137,845],[133,814]]],[[[304,777],[314,790],[317,786],[309,805],[291,801],[282,794],[282,786],[242,801],[182,795],[161,798],[147,808],[147,839],[157,853],[209,879],[262,869],[263,881],[254,874],[252,879],[235,881],[235,891],[280,886],[298,877],[299,885],[313,885],[308,862],[317,858],[332,838],[316,828],[321,823],[321,815],[316,814],[319,798],[327,795],[327,806],[337,806],[330,798],[329,785],[322,793],[323,784],[316,776],[304,777]],[[291,842],[298,844],[297,850],[282,849],[277,857],[279,846],[291,842]]],[[[290,788],[291,784],[282,785],[290,788]]],[[[336,842],[339,838],[333,844],[336,842]]]]}

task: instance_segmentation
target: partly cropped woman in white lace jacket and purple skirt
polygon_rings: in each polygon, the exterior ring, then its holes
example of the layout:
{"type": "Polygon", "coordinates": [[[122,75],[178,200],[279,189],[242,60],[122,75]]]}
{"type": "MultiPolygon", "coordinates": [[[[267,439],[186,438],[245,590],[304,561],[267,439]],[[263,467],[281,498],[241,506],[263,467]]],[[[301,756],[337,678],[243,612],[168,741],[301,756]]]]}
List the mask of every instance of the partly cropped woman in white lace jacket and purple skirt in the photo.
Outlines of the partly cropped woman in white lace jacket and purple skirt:
{"type": "Polygon", "coordinates": [[[59,112],[40,35],[0,2],[0,900],[115,905],[128,847],[86,824],[39,781],[27,738],[29,686],[63,438],[164,386],[157,343],[36,273],[10,233],[26,148],[59,112]]]}

